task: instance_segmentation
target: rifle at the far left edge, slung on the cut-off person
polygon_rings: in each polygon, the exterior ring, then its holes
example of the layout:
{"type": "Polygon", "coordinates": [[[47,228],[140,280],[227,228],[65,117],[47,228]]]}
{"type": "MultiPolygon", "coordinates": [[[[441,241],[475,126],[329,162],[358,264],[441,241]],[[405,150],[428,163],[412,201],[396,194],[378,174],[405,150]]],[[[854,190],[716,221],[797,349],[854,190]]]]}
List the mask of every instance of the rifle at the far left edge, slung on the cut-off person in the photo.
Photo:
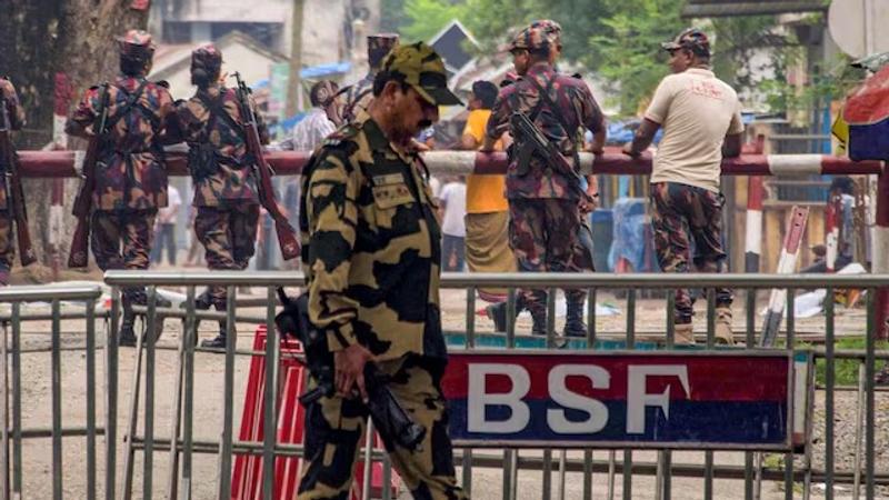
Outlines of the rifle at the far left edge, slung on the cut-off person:
{"type": "Polygon", "coordinates": [[[37,261],[31,234],[28,232],[28,212],[24,209],[24,190],[21,187],[19,173],[19,157],[12,146],[12,120],[9,118],[9,101],[6,93],[0,91],[0,162],[6,167],[7,197],[12,203],[12,218],[16,219],[16,240],[19,247],[19,259],[22,266],[30,266],[37,261]]]}

